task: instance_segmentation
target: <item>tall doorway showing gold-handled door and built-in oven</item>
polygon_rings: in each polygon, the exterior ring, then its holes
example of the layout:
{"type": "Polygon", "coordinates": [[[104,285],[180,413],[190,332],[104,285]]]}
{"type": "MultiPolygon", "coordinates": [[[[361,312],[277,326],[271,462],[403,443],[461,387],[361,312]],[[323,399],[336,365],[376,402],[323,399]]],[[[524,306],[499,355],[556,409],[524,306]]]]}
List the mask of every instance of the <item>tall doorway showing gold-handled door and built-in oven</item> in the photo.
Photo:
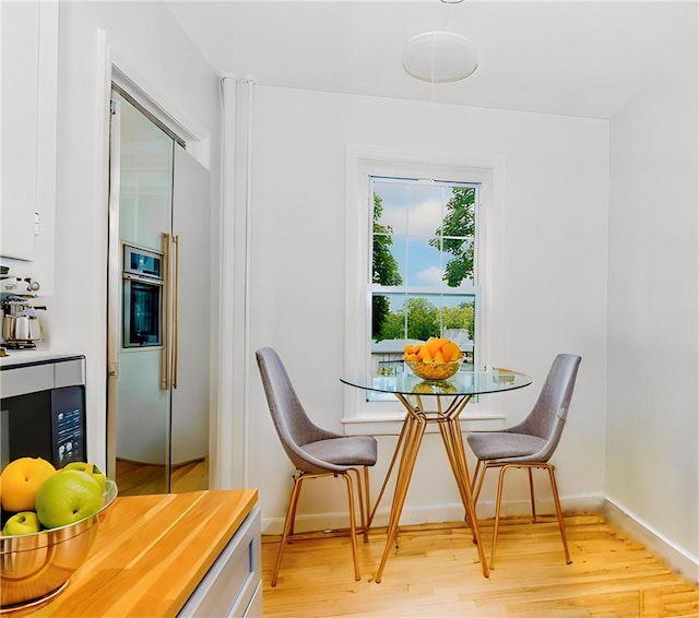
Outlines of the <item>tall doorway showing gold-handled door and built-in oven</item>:
{"type": "Polygon", "coordinates": [[[111,94],[107,473],[120,495],[208,489],[209,171],[111,94]]]}

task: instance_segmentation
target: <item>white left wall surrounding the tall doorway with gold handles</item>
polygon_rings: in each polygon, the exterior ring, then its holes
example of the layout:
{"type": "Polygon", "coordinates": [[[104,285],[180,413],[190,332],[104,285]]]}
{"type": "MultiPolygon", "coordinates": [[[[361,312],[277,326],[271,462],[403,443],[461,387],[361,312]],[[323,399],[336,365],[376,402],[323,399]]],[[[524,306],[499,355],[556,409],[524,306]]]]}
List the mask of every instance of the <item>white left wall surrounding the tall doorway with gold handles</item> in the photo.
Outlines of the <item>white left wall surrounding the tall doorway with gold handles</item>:
{"type": "MultiPolygon", "coordinates": [[[[105,464],[109,64],[202,139],[210,138],[218,204],[216,73],[159,2],[61,2],[59,22],[56,285],[47,298],[51,347],[87,358],[88,457],[105,464]],[[104,34],[100,34],[100,29],[104,34]],[[105,48],[106,44],[106,48],[105,48]]],[[[206,156],[209,153],[206,153],[206,156]]],[[[202,158],[206,158],[203,156],[202,158]]],[[[213,221],[217,221],[214,214],[213,221]]],[[[209,248],[216,254],[218,236],[209,248]]],[[[212,260],[212,263],[218,263],[212,260]]],[[[217,266],[216,266],[217,268],[217,266]]],[[[212,276],[217,278],[217,271],[212,276]]],[[[213,299],[216,307],[216,299],[213,299]]]]}

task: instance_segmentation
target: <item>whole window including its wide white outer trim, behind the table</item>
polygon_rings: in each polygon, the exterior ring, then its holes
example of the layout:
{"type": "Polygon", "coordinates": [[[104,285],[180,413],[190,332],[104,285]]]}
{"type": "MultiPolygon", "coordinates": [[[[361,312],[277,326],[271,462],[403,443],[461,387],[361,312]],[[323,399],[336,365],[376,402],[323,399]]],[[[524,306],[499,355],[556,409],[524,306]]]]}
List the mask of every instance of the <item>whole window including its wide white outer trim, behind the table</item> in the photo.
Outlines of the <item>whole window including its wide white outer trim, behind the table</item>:
{"type": "MultiPolygon", "coordinates": [[[[347,154],[344,373],[402,370],[406,341],[439,335],[459,342],[464,370],[498,358],[491,248],[500,163],[356,146],[347,154]]],[[[404,415],[392,395],[359,389],[344,390],[344,405],[347,432],[381,432],[362,424],[404,415]]]]}

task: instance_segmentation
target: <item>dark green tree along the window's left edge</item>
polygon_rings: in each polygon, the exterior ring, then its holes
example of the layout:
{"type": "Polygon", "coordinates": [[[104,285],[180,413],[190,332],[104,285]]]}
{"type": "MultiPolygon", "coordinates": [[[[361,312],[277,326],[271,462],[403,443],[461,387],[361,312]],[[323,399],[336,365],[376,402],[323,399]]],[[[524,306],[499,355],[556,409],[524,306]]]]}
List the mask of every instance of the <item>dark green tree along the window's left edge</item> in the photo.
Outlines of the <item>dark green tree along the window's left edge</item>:
{"type": "MultiPolygon", "coordinates": [[[[398,262],[391,253],[393,245],[393,229],[390,225],[382,225],[383,200],[374,194],[374,235],[371,251],[371,283],[380,285],[401,285],[403,280],[398,270],[398,262]]],[[[388,296],[374,296],[371,298],[371,337],[376,341],[382,338],[402,338],[382,336],[383,323],[391,311],[388,296]]]]}

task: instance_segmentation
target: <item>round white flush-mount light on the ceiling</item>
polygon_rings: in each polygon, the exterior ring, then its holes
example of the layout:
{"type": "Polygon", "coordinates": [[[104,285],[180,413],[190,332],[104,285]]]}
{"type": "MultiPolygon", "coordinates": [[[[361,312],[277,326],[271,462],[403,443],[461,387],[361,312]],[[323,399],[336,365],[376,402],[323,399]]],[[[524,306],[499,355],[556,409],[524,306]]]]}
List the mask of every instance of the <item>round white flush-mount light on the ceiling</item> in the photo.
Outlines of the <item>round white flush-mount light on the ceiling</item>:
{"type": "Polygon", "coordinates": [[[477,66],[475,45],[451,32],[418,34],[407,41],[403,50],[403,69],[424,82],[458,82],[471,75],[477,66]]]}

